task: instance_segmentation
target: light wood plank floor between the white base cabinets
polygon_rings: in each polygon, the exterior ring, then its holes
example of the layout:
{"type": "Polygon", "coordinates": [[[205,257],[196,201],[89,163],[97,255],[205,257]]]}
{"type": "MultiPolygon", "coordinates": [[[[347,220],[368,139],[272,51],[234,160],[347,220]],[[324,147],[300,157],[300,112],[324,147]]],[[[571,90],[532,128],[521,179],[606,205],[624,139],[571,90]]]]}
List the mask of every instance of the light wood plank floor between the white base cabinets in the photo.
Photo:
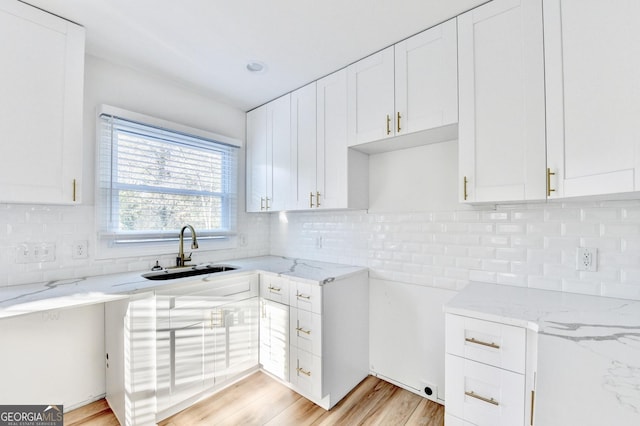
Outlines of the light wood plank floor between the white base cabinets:
{"type": "MultiPolygon", "coordinates": [[[[118,425],[104,399],[70,411],[64,424],[118,425]]],[[[444,407],[369,376],[325,411],[257,372],[160,423],[194,425],[425,425],[443,426],[444,407]]]]}

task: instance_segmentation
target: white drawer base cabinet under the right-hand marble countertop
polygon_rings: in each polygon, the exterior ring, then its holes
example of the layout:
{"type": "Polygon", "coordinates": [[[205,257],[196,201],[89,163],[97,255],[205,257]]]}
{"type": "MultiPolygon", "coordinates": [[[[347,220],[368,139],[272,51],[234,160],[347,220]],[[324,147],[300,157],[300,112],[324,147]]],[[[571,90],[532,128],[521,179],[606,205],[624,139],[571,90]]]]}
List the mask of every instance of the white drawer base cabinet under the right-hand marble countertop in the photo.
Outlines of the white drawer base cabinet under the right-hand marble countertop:
{"type": "Polygon", "coordinates": [[[445,425],[532,425],[534,338],[522,327],[447,314],[445,425]]]}

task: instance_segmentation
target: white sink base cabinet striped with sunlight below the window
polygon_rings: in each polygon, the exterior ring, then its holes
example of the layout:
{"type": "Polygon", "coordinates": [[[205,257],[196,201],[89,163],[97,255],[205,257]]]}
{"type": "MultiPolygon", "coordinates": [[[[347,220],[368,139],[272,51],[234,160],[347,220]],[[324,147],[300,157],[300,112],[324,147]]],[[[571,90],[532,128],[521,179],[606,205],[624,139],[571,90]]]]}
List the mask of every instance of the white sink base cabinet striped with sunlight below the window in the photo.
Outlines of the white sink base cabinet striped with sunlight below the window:
{"type": "Polygon", "coordinates": [[[190,406],[258,365],[258,275],[167,286],[105,304],[106,398],[123,425],[190,406]]]}

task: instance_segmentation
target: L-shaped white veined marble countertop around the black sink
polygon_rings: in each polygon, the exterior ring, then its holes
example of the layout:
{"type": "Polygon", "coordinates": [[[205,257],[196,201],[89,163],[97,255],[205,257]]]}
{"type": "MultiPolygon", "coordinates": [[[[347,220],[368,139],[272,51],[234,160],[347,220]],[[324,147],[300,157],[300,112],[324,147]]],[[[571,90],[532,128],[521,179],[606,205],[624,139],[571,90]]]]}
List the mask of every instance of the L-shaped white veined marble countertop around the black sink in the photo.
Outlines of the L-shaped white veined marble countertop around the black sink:
{"type": "MultiPolygon", "coordinates": [[[[234,271],[214,274],[217,277],[238,273],[265,272],[289,276],[315,284],[346,278],[366,268],[292,259],[278,256],[262,256],[236,259],[216,264],[230,265],[234,271]]],[[[100,275],[95,277],[70,278],[27,285],[0,288],[0,318],[50,309],[104,303],[129,297],[132,294],[154,291],[155,289],[180,285],[186,282],[210,280],[212,274],[178,278],[166,281],[152,281],[142,277],[149,271],[100,275]]]]}

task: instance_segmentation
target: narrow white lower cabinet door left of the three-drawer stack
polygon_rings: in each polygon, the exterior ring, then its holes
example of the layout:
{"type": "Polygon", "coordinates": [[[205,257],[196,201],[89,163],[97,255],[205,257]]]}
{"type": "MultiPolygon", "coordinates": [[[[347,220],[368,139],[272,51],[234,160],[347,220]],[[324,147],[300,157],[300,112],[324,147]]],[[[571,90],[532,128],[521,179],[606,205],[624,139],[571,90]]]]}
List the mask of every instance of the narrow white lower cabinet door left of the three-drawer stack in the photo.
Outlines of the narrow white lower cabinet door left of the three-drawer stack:
{"type": "Polygon", "coordinates": [[[289,380],[289,307],[266,299],[260,299],[260,364],[289,380]]]}

